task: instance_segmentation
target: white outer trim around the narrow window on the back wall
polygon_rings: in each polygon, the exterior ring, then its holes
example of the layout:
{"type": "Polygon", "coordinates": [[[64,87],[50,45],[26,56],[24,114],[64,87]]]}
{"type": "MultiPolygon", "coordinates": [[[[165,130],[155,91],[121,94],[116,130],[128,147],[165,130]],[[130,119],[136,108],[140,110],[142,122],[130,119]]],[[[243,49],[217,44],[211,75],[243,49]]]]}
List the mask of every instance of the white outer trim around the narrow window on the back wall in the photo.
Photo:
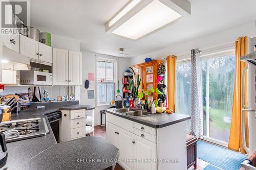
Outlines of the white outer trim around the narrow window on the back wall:
{"type": "MultiPolygon", "coordinates": [[[[118,59],[112,59],[112,58],[104,58],[104,57],[98,57],[97,55],[95,55],[95,103],[96,106],[114,106],[111,105],[109,103],[105,103],[105,104],[98,104],[98,80],[97,80],[97,62],[98,61],[107,61],[107,62],[112,62],[114,63],[115,67],[114,67],[114,96],[116,96],[116,82],[117,82],[117,70],[118,70],[118,59]]],[[[104,83],[111,83],[111,82],[104,82],[104,83]]]]}

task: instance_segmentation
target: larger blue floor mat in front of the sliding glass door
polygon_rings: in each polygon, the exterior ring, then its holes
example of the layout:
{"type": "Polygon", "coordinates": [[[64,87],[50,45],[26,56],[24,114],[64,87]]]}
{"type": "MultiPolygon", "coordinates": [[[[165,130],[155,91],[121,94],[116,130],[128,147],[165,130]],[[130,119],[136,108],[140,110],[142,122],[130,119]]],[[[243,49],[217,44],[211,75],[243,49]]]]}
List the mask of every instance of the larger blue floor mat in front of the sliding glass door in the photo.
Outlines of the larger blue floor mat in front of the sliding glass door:
{"type": "Polygon", "coordinates": [[[224,170],[239,170],[247,156],[198,140],[197,157],[224,170]]]}

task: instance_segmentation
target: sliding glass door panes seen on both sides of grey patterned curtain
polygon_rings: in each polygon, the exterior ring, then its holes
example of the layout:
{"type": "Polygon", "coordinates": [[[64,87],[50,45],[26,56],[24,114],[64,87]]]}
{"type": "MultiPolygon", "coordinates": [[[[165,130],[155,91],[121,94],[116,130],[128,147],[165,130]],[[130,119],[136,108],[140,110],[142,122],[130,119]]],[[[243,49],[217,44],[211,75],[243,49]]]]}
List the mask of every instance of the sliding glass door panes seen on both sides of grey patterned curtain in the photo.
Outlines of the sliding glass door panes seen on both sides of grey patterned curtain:
{"type": "MultiPolygon", "coordinates": [[[[234,85],[234,55],[201,59],[203,136],[226,146],[229,139],[234,85]]],[[[190,61],[176,64],[175,112],[190,115],[190,61]]],[[[189,131],[190,122],[187,124],[189,131]]]]}

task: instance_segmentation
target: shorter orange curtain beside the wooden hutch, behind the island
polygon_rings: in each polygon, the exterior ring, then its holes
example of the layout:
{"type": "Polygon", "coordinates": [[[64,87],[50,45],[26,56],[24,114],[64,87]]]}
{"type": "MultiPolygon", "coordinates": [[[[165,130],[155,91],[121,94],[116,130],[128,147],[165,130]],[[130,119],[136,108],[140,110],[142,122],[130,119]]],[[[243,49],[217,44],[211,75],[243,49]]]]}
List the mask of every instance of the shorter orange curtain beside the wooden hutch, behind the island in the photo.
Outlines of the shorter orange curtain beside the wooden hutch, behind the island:
{"type": "Polygon", "coordinates": [[[168,108],[175,111],[175,74],[176,74],[176,57],[167,57],[167,100],[168,108]]]}

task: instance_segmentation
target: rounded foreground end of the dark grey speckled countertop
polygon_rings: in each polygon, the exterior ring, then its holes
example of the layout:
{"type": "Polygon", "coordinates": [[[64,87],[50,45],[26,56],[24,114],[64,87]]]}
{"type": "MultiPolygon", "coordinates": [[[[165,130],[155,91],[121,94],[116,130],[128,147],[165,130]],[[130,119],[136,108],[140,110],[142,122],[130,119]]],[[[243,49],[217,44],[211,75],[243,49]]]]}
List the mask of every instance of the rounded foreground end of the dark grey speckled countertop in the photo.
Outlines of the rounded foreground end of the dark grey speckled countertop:
{"type": "Polygon", "coordinates": [[[19,169],[114,169],[118,157],[119,150],[113,144],[88,136],[58,143],[19,169]]]}

